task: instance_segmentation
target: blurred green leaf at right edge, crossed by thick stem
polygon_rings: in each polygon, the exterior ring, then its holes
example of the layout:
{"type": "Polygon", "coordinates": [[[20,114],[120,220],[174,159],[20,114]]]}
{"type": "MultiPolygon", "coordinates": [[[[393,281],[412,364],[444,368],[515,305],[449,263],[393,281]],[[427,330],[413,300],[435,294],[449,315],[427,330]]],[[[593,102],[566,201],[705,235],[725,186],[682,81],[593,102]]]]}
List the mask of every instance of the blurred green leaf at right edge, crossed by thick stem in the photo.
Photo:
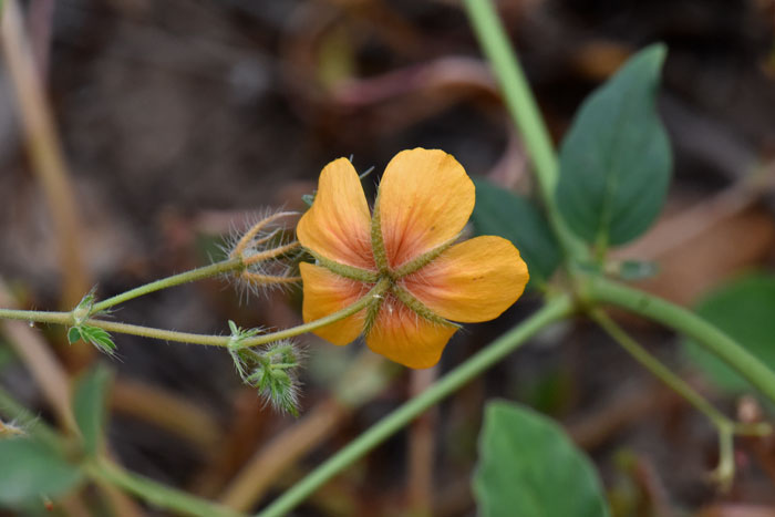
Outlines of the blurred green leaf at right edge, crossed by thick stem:
{"type": "MultiPolygon", "coordinates": [[[[750,273],[705,297],[696,312],[775,370],[775,277],[750,273]]],[[[684,341],[686,356],[720,387],[732,393],[754,387],[703,347],[684,341]]]]}

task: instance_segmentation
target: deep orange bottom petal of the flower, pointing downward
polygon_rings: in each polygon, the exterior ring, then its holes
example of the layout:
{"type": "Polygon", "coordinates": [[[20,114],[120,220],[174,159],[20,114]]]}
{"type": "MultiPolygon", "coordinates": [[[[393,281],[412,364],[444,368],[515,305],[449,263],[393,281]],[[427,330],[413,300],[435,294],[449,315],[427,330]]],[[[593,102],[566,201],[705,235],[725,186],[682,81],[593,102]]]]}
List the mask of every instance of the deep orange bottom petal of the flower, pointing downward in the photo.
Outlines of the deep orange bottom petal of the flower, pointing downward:
{"type": "Polygon", "coordinates": [[[388,296],[366,335],[366,344],[405,366],[431,368],[438,362],[455,330],[424,319],[388,296]]]}

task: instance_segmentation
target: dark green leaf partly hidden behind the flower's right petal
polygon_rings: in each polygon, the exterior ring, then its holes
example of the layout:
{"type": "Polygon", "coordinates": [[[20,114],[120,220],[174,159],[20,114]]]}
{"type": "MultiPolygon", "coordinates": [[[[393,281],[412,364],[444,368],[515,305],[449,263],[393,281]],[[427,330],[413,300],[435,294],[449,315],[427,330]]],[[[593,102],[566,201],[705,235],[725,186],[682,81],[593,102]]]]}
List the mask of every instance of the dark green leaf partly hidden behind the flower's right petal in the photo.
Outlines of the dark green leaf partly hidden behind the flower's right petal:
{"type": "Polygon", "coordinates": [[[497,235],[517,247],[530,273],[530,283],[545,283],[562,259],[555,234],[544,214],[529,200],[484,179],[476,179],[472,216],[476,232],[497,235]]]}

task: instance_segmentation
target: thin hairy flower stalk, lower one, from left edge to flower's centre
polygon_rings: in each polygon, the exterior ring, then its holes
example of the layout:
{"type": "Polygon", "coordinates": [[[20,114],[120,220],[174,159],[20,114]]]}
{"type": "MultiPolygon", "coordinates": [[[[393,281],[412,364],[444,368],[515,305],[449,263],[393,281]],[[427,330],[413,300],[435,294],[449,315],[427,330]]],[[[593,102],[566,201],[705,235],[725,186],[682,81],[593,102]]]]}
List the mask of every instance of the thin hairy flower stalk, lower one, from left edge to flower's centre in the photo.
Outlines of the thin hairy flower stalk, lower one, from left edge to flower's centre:
{"type": "MultiPolygon", "coordinates": [[[[380,281],[376,286],[372,288],[372,290],[369,293],[366,293],[363,298],[358,300],[352,306],[345,307],[344,309],[333,312],[324,318],[310,321],[309,323],[292,327],[290,329],[272,332],[269,334],[258,334],[256,337],[240,341],[239,344],[235,348],[242,349],[271,343],[286,338],[292,338],[294,335],[311,332],[321,327],[326,327],[339,320],[343,320],[344,318],[365,309],[365,307],[373,301],[375,296],[379,296],[385,291],[385,289],[388,288],[388,283],[389,280],[386,279],[380,281]]],[[[55,323],[64,325],[72,325],[74,323],[73,316],[71,312],[20,311],[12,309],[0,309],[0,318],[9,320],[24,320],[34,321],[39,323],[55,323]]],[[[231,344],[231,337],[229,335],[210,335],[196,334],[192,332],[178,332],[174,330],[154,329],[151,327],[143,327],[131,323],[118,323],[115,321],[97,320],[94,318],[86,319],[83,322],[83,324],[97,327],[108,332],[133,334],[140,335],[142,338],[158,339],[163,341],[177,341],[180,343],[204,344],[210,347],[227,347],[231,344]]]]}

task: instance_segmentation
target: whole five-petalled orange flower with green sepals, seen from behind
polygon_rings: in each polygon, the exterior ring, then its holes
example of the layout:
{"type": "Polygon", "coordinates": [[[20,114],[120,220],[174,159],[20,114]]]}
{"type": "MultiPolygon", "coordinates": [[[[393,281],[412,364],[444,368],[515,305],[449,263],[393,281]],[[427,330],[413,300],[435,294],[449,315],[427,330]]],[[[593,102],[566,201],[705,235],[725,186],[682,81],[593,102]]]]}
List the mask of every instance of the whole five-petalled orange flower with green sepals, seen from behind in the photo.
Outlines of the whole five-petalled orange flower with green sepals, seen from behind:
{"type": "Polygon", "coordinates": [[[452,321],[497,318],[529,278],[506,239],[454,244],[474,201],[474,184],[452,155],[416,148],[388,164],[371,216],[352,164],[331,162],[297,227],[316,258],[301,265],[304,321],[368,296],[363,310],[314,333],[334,344],[364,334],[371,350],[395,362],[436,364],[458,329],[452,321]]]}

